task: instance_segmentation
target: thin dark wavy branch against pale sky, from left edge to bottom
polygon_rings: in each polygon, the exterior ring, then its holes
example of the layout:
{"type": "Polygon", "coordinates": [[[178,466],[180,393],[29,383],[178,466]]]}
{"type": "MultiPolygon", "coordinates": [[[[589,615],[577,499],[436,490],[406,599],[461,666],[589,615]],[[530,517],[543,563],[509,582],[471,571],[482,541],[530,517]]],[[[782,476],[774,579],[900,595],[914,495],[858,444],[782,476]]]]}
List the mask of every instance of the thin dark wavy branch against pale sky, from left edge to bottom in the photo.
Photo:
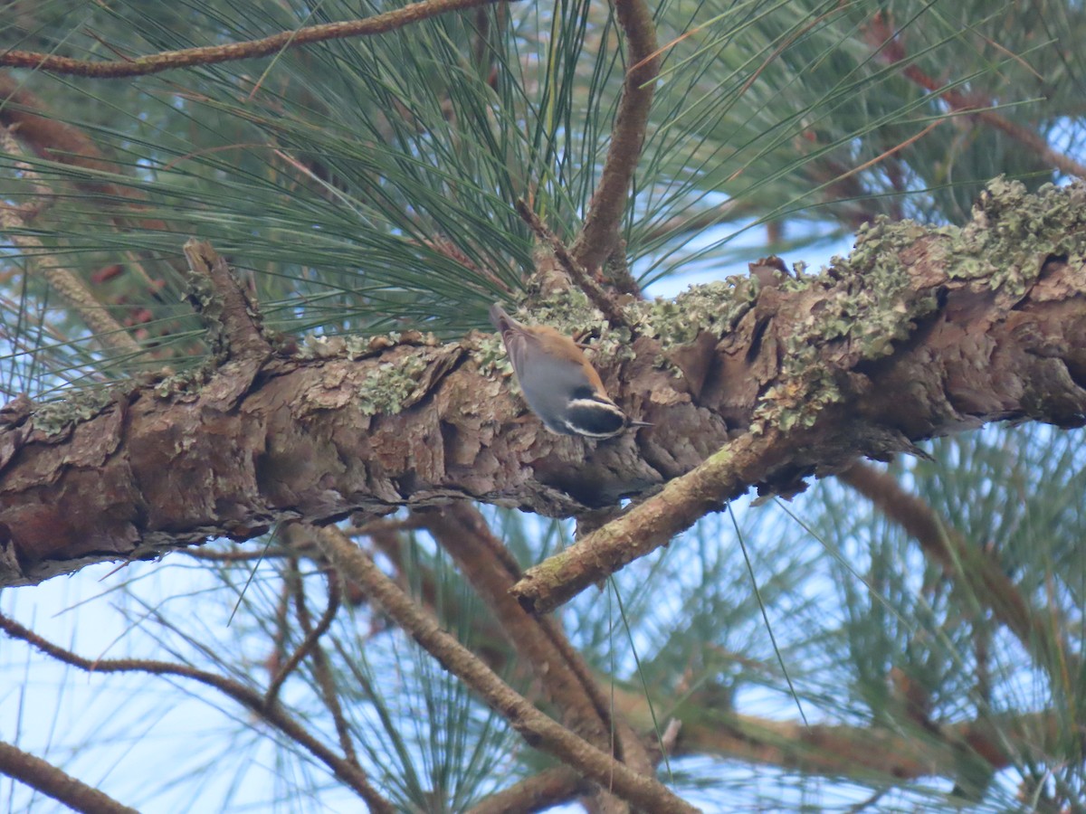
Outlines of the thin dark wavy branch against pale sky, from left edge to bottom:
{"type": "Polygon", "coordinates": [[[279,704],[269,704],[264,696],[251,687],[247,687],[236,681],[215,673],[189,666],[188,664],[175,664],[167,661],[154,661],[150,659],[102,659],[91,661],[81,656],[77,656],[71,650],[65,650],[48,639],[38,636],[27,627],[24,627],[13,619],[0,614],[0,631],[15,639],[21,639],[46,656],[56,659],[64,664],[68,664],[87,673],[149,673],[151,675],[173,675],[180,678],[191,678],[207,687],[217,689],[228,698],[233,699],[245,709],[252,711],[265,723],[274,726],[292,741],[310,752],[314,758],[324,763],[343,783],[354,789],[357,794],[366,801],[370,810],[378,814],[395,814],[395,809],[377,790],[369,785],[369,780],[358,766],[350,761],[340,758],[332,752],[306,729],[302,727],[291,715],[279,704]]]}

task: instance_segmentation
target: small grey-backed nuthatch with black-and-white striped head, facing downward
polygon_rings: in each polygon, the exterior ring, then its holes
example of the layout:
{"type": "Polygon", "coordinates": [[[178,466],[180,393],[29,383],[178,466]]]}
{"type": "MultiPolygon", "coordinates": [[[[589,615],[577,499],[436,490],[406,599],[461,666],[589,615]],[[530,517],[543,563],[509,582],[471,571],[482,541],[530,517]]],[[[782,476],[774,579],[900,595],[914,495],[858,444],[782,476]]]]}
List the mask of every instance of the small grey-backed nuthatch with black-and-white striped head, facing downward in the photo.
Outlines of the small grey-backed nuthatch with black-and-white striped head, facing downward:
{"type": "Polygon", "coordinates": [[[502,332],[525,400],[551,432],[611,438],[628,427],[652,427],[631,421],[607,397],[599,373],[569,336],[550,326],[521,325],[497,303],[490,321],[502,332]]]}

